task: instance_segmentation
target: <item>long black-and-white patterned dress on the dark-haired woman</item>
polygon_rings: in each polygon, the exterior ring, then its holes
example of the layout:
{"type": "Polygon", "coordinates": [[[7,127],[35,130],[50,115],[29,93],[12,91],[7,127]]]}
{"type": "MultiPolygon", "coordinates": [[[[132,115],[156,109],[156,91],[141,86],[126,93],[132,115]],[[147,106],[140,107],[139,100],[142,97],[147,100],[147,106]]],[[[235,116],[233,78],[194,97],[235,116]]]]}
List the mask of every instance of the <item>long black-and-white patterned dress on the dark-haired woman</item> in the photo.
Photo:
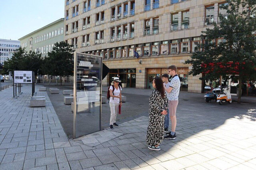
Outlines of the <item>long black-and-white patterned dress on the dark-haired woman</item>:
{"type": "Polygon", "coordinates": [[[162,98],[158,90],[153,90],[149,98],[149,123],[147,131],[147,145],[155,146],[164,140],[164,115],[163,110],[167,111],[168,99],[162,98]]]}

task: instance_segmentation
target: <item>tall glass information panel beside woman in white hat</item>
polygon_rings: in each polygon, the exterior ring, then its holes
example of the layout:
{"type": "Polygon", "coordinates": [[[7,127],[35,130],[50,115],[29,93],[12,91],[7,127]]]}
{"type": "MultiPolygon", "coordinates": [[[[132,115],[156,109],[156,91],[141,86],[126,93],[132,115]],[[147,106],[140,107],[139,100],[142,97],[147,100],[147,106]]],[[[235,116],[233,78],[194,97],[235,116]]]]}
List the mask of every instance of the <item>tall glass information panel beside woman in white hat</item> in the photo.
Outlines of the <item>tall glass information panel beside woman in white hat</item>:
{"type": "Polygon", "coordinates": [[[100,131],[102,58],[84,53],[74,57],[73,137],[100,131]]]}

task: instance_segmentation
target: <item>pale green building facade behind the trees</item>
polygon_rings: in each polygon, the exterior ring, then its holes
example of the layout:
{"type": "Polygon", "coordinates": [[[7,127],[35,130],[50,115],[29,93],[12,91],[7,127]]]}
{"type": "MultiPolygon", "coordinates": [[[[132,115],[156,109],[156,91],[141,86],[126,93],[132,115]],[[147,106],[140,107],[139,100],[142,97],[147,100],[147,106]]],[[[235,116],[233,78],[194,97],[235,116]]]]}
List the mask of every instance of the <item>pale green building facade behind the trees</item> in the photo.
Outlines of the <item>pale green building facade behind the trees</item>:
{"type": "Polygon", "coordinates": [[[54,43],[64,40],[64,19],[61,18],[44,27],[29,33],[20,39],[21,47],[27,52],[34,51],[47,56],[52,51],[54,43]]]}

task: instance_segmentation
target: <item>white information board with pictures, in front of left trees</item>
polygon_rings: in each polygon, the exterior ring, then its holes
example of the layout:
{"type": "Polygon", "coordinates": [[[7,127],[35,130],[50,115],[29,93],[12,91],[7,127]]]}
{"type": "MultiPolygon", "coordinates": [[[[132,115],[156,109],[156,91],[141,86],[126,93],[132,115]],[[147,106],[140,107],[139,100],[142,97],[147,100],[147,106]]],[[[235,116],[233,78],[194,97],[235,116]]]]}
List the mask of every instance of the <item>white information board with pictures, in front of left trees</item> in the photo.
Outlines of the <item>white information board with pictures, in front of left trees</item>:
{"type": "Polygon", "coordinates": [[[14,71],[14,83],[32,83],[32,71],[14,71]]]}

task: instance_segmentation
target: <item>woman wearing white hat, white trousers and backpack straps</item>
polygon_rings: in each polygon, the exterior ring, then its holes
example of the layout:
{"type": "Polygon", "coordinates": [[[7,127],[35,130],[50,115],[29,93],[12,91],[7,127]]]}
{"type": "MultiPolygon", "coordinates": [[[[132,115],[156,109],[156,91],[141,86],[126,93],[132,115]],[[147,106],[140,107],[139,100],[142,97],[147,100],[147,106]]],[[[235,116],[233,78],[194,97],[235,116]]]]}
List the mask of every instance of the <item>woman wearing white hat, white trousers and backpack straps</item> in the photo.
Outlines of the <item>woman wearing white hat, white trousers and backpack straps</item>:
{"type": "Polygon", "coordinates": [[[109,123],[109,128],[110,129],[114,129],[114,126],[118,126],[118,124],[116,124],[116,115],[118,112],[118,108],[119,105],[122,106],[122,87],[119,86],[119,82],[121,82],[119,80],[119,78],[114,78],[113,86],[110,86],[109,88],[109,95],[110,95],[110,99],[109,99],[109,106],[110,106],[110,123],[109,123]]]}

